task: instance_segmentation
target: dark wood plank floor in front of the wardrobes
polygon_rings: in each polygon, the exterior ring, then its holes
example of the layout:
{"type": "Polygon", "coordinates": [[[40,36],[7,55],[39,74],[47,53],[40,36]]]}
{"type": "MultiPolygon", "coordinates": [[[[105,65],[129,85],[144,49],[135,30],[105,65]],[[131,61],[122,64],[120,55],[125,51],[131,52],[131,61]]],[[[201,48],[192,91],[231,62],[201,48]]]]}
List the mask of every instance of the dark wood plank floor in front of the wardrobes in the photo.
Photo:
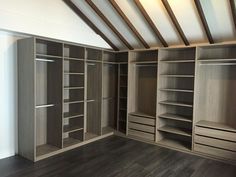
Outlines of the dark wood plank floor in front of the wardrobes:
{"type": "Polygon", "coordinates": [[[112,136],[37,163],[0,160],[1,177],[235,177],[236,166],[112,136]]]}

